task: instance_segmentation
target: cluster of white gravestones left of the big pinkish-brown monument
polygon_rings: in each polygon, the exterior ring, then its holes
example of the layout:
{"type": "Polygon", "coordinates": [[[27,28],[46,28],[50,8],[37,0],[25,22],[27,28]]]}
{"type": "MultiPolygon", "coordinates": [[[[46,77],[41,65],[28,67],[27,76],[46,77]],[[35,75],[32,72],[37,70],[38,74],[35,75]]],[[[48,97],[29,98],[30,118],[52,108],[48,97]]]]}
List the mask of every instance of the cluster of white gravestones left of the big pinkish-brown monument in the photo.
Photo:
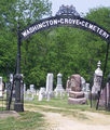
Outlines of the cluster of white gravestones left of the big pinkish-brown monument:
{"type": "Polygon", "coordinates": [[[46,98],[47,101],[51,100],[51,98],[55,98],[55,95],[57,96],[57,94],[60,92],[60,95],[61,93],[65,91],[63,89],[63,86],[61,86],[61,74],[58,74],[57,75],[57,86],[56,86],[56,89],[53,91],[53,74],[47,74],[46,76],[46,89],[44,87],[40,88],[40,90],[35,90],[33,88],[33,84],[30,84],[30,89],[28,89],[26,91],[26,86],[24,86],[24,92],[26,94],[26,98],[24,100],[33,100],[33,93],[37,95],[39,95],[39,100],[38,101],[42,101],[43,98],[46,98]],[[55,92],[55,94],[54,94],[55,92]],[[32,94],[31,98],[28,98],[28,94],[32,94]]]}

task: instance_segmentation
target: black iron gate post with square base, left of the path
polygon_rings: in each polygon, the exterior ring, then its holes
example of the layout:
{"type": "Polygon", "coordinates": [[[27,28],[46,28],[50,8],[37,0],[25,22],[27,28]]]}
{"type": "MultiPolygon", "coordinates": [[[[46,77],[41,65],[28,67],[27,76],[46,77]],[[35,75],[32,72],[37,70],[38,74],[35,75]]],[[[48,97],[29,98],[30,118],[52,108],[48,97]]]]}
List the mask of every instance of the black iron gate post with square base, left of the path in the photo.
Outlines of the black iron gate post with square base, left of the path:
{"type": "Polygon", "coordinates": [[[23,103],[20,102],[20,30],[19,30],[19,22],[18,22],[18,50],[17,50],[17,65],[16,65],[16,75],[14,76],[14,80],[16,80],[15,86],[15,103],[14,110],[24,112],[23,103]]]}

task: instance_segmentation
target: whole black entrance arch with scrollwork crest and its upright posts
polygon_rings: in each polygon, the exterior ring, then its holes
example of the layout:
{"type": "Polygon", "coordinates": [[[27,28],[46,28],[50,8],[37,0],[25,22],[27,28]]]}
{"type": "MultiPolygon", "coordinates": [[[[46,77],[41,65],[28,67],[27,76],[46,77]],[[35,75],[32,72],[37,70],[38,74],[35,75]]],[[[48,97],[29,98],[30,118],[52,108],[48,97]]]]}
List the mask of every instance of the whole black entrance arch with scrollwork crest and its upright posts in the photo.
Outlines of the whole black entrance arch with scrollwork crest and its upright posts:
{"type": "MultiPolygon", "coordinates": [[[[49,28],[55,28],[55,27],[75,27],[75,28],[81,28],[87,31],[91,31],[104,40],[107,41],[107,55],[108,55],[108,48],[110,43],[110,34],[99,26],[98,24],[91,22],[88,20],[85,20],[83,17],[80,17],[80,14],[75,11],[75,8],[73,5],[70,6],[65,6],[61,5],[59,8],[59,11],[56,13],[55,16],[49,17],[41,20],[37,23],[31,24],[30,26],[26,27],[22,31],[19,30],[18,26],[18,52],[17,52],[17,67],[16,67],[16,91],[17,91],[17,99],[16,99],[16,104],[15,108],[17,109],[17,105],[19,100],[19,82],[20,82],[20,42],[28,39],[30,36],[49,29],[49,28]]],[[[107,63],[107,56],[106,56],[106,63],[107,63]]],[[[106,64],[105,64],[106,68],[106,64]]],[[[105,70],[104,70],[105,74],[105,70]]]]}

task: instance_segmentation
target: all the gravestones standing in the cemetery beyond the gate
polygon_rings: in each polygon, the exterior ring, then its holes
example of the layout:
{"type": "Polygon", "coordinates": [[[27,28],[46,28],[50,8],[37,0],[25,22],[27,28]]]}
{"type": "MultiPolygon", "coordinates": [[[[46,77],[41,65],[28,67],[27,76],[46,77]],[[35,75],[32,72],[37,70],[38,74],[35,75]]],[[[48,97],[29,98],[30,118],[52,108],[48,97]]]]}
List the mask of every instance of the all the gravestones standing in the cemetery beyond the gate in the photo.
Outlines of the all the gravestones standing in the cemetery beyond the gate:
{"type": "MultiPolygon", "coordinates": [[[[97,100],[97,94],[100,91],[101,86],[101,79],[102,79],[102,70],[100,69],[100,61],[98,62],[98,68],[95,70],[94,74],[94,84],[92,88],[92,94],[95,100],[97,100]]],[[[46,98],[47,101],[51,100],[51,98],[55,98],[60,93],[60,96],[64,93],[68,93],[69,104],[86,104],[86,100],[88,99],[88,92],[90,92],[90,83],[85,82],[85,79],[81,77],[80,75],[71,75],[70,78],[67,80],[66,84],[66,91],[61,86],[61,74],[57,75],[57,86],[56,89],[53,91],[53,74],[47,74],[46,76],[46,89],[41,88],[40,90],[35,90],[35,86],[30,84],[30,89],[26,91],[26,84],[24,84],[24,93],[25,98],[24,100],[33,100],[33,95],[39,95],[38,101],[42,101],[43,98],[46,98]],[[28,96],[31,94],[31,96],[28,96]]],[[[109,100],[109,84],[101,91],[100,93],[100,105],[105,105],[105,96],[106,96],[106,90],[107,89],[107,102],[109,100]]],[[[2,77],[0,77],[0,98],[2,96],[2,77]]]]}

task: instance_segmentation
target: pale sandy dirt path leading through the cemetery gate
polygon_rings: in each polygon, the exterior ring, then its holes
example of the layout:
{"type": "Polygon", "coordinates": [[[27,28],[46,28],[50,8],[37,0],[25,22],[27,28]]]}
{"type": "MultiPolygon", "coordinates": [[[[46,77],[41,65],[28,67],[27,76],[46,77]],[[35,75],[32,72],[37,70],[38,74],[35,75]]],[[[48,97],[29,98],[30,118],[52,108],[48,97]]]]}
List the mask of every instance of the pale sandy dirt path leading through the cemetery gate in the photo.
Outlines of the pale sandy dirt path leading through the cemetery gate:
{"type": "MultiPolygon", "coordinates": [[[[49,106],[42,106],[49,107],[49,106]]],[[[56,109],[56,107],[52,107],[56,109]]],[[[59,108],[58,108],[59,109],[59,108]]],[[[25,107],[25,110],[28,110],[25,107]]],[[[110,130],[110,116],[77,110],[83,118],[73,117],[72,115],[64,115],[58,113],[41,112],[31,108],[29,110],[39,112],[45,115],[45,130],[110,130]]],[[[73,109],[68,109],[73,110],[73,109]]],[[[74,110],[73,110],[74,112],[74,110]]]]}

